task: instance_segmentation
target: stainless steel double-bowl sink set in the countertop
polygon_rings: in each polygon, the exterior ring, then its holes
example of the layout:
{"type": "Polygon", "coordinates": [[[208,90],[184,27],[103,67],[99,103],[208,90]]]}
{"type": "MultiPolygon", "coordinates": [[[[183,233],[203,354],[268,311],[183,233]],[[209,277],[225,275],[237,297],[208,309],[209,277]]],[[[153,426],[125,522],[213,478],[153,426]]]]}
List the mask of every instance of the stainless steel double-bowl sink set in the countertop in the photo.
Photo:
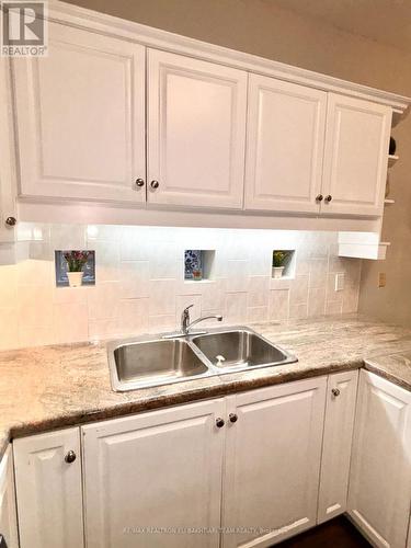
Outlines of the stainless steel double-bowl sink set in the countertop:
{"type": "Polygon", "coordinates": [[[173,339],[146,335],[113,341],[107,352],[112,386],[117,391],[297,362],[246,327],[173,339]]]}

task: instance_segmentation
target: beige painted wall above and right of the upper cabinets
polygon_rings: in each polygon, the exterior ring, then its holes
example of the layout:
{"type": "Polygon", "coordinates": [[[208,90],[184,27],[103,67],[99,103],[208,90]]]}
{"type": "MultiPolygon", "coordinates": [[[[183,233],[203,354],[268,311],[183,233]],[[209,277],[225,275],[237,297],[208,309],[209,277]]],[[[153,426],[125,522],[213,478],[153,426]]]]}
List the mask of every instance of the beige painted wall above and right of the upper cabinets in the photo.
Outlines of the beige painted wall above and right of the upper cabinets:
{"type": "MultiPolygon", "coordinates": [[[[276,5],[275,0],[70,0],[72,3],[411,96],[411,54],[276,5]]],[[[334,0],[338,1],[338,0],[334,0]]],[[[350,5],[347,4],[347,9],[350,5]]],[[[370,16],[373,14],[370,13],[370,16]]],[[[387,9],[387,21],[390,12],[387,9]]],[[[392,170],[383,240],[387,261],[364,261],[359,310],[411,326],[411,116],[393,135],[400,161],[392,170]],[[378,289],[378,272],[387,287],[378,289]]]]}

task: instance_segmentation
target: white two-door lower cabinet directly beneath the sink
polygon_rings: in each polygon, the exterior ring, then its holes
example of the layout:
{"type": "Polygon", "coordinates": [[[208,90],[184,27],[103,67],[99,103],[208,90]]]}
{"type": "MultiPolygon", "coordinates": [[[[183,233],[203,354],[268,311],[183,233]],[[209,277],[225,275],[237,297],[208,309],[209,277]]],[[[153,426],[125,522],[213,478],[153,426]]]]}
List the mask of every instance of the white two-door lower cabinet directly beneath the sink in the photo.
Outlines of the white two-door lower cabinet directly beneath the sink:
{"type": "Polygon", "coordinates": [[[225,547],[313,526],[326,386],[320,377],[84,426],[88,547],[217,547],[221,511],[225,547]]]}

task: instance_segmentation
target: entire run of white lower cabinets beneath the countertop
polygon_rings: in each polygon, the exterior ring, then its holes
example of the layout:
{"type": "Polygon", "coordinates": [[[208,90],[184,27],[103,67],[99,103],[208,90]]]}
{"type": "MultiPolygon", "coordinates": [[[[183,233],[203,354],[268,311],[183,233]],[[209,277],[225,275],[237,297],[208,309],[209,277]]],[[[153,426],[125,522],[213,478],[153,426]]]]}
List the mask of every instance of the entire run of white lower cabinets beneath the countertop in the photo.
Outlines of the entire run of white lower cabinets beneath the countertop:
{"type": "Polygon", "coordinates": [[[20,547],[269,547],[349,511],[374,546],[411,548],[411,392],[359,375],[357,397],[343,372],[15,439],[20,547]]]}

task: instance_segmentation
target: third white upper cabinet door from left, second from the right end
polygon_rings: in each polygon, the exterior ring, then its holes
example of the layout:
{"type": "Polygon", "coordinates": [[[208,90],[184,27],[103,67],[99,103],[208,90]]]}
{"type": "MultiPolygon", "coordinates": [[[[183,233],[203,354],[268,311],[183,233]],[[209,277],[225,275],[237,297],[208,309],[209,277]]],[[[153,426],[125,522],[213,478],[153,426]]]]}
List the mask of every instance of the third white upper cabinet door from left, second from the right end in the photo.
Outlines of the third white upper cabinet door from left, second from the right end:
{"type": "Polygon", "coordinates": [[[318,213],[327,93],[250,75],[246,208],[318,213]]]}

